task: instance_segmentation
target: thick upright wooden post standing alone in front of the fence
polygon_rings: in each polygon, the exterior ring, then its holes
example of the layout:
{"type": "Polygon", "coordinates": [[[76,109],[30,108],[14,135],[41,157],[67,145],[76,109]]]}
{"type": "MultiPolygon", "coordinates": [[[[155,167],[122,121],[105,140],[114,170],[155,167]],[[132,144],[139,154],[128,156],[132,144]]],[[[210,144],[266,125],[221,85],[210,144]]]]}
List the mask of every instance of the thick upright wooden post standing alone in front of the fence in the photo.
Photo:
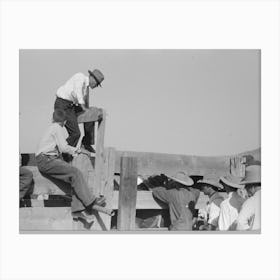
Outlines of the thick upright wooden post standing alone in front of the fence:
{"type": "Polygon", "coordinates": [[[137,197],[137,159],[121,158],[118,230],[134,230],[137,197]]]}

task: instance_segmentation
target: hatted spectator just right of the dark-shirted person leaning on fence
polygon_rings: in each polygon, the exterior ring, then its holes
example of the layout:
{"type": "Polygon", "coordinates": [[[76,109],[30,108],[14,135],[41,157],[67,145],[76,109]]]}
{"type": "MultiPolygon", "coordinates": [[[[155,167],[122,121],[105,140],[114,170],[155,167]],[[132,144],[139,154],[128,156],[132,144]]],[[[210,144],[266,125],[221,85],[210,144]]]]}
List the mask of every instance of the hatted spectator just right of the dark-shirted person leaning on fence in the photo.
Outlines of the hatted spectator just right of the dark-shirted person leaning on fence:
{"type": "Polygon", "coordinates": [[[200,227],[200,230],[216,230],[220,216],[220,206],[224,197],[220,194],[223,186],[211,175],[206,175],[196,184],[200,191],[209,197],[206,206],[206,224],[200,227]]]}

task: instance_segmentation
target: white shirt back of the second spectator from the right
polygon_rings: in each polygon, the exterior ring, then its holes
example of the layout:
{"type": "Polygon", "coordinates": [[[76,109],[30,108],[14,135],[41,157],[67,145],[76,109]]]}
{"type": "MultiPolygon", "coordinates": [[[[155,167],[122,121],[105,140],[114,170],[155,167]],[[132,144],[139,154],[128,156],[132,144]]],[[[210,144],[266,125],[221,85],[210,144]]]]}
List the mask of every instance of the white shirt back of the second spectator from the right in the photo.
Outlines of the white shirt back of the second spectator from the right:
{"type": "Polygon", "coordinates": [[[220,216],[219,216],[219,230],[234,230],[234,225],[238,217],[238,211],[230,204],[232,192],[229,193],[227,199],[221,203],[220,216]]]}

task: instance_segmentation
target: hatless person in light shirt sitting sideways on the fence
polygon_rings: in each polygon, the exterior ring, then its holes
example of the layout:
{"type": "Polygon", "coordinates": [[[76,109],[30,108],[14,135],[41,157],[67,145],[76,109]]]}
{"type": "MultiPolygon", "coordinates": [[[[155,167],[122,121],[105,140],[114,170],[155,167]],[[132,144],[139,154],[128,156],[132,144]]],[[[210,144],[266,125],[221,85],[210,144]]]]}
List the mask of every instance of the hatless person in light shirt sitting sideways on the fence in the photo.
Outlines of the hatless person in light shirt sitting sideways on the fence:
{"type": "Polygon", "coordinates": [[[61,159],[61,153],[68,153],[72,156],[79,153],[89,153],[84,149],[67,144],[63,133],[65,122],[65,111],[56,109],[53,113],[53,123],[39,144],[36,153],[37,166],[43,175],[71,184],[73,188],[71,204],[73,217],[92,222],[94,220],[91,212],[93,205],[104,206],[105,198],[95,197],[90,192],[82,172],[61,159]]]}

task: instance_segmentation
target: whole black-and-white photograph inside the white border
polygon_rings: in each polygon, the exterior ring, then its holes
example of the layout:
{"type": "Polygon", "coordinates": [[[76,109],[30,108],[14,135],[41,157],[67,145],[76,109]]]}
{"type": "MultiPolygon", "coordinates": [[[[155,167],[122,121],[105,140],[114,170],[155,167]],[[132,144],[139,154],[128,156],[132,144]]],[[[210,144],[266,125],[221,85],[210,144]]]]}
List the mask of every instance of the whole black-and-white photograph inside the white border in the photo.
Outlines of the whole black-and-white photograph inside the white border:
{"type": "Polygon", "coordinates": [[[260,50],[20,50],[26,231],[261,231],[260,50]]]}

